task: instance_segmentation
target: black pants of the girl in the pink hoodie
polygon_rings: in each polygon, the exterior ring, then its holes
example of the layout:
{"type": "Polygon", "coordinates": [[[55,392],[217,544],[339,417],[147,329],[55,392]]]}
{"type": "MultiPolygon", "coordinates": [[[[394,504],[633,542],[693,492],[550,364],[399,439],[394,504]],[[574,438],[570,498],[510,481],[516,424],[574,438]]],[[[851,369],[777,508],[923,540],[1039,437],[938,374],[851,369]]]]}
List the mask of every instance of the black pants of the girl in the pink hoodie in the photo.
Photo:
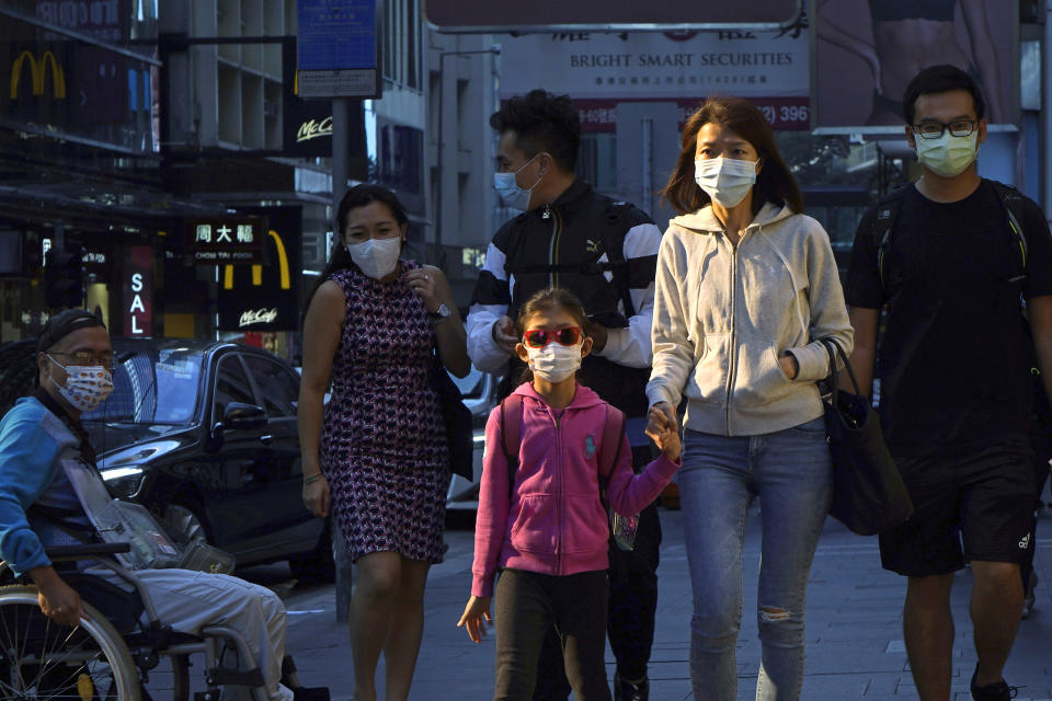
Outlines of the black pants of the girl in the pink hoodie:
{"type": "Polygon", "coordinates": [[[573,693],[580,701],[609,701],[605,572],[562,577],[504,570],[496,582],[496,688],[494,701],[528,701],[538,678],[545,636],[557,631],[573,693]]]}

